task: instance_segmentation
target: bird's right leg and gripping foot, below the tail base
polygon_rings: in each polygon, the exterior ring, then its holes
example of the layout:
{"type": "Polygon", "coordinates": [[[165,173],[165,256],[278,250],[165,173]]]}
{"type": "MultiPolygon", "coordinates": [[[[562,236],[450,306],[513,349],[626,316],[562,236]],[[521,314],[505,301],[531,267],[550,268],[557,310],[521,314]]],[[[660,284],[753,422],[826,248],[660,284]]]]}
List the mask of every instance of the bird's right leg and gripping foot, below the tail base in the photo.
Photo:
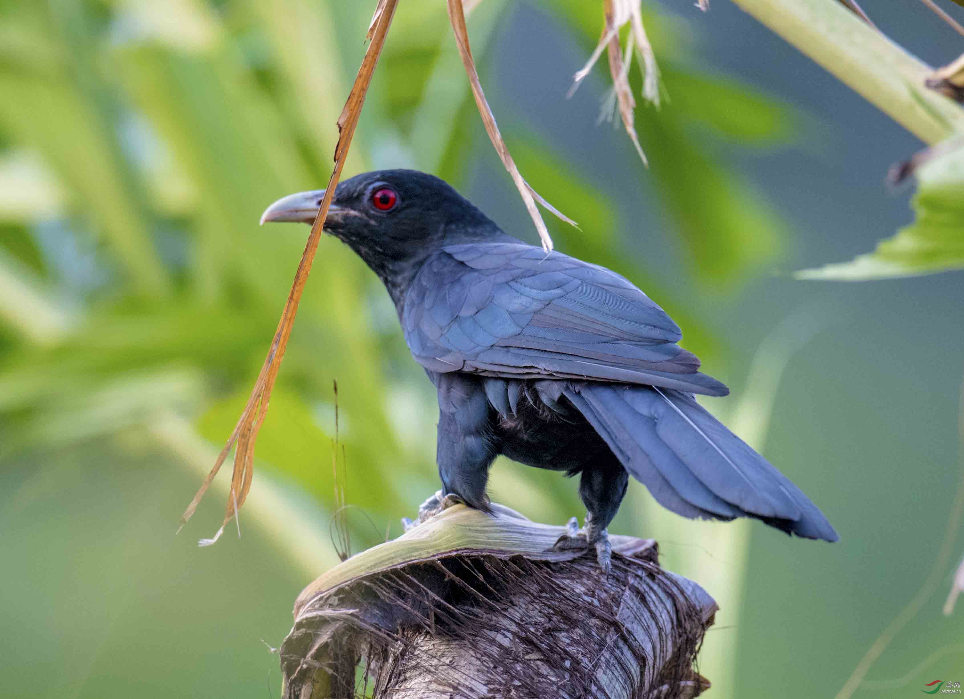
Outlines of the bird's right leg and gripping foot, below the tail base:
{"type": "Polygon", "coordinates": [[[582,471],[579,481],[579,497],[586,505],[585,526],[579,530],[576,517],[569,520],[566,533],[555,542],[556,549],[596,550],[596,559],[604,573],[609,572],[612,560],[612,546],[606,527],[616,516],[616,510],[626,495],[629,475],[626,469],[613,457],[611,462],[595,464],[582,471]]]}

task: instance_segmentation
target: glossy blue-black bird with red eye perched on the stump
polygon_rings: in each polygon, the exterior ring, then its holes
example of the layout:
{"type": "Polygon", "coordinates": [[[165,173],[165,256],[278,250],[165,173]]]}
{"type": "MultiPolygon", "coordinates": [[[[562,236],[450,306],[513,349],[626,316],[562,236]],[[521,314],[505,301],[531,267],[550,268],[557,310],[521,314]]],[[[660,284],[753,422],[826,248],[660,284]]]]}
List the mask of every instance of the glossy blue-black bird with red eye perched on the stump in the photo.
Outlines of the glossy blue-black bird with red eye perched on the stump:
{"type": "MultiPolygon", "coordinates": [[[[286,196],[261,222],[310,223],[324,191],[286,196]]],[[[631,474],[684,517],[753,517],[811,539],[837,532],[800,490],[694,394],[725,396],[677,343],[680,328],[616,272],[504,233],[445,182],[414,170],[338,185],[325,230],[388,289],[412,355],[438,388],[442,493],[489,510],[495,456],[580,475],[595,547],[631,474]]]]}

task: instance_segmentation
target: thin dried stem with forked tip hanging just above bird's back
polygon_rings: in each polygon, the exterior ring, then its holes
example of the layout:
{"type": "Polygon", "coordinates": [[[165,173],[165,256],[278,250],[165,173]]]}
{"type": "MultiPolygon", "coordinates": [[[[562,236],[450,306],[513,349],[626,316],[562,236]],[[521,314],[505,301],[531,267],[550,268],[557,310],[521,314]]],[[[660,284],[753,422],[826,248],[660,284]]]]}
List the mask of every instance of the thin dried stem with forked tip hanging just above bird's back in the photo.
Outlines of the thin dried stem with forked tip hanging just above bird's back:
{"type": "Polygon", "coordinates": [[[463,0],[448,0],[448,18],[452,23],[452,32],[455,34],[455,42],[459,47],[459,55],[462,57],[462,64],[465,65],[466,73],[469,75],[469,85],[472,89],[472,95],[475,97],[475,105],[478,107],[479,115],[482,116],[482,122],[485,124],[485,130],[489,134],[489,140],[492,141],[492,144],[495,146],[495,152],[498,153],[498,157],[502,161],[502,165],[505,166],[509,174],[512,175],[512,181],[516,183],[516,189],[518,189],[519,194],[522,195],[525,208],[528,210],[529,216],[532,217],[532,222],[536,224],[536,230],[539,231],[539,239],[542,241],[543,249],[549,252],[549,250],[552,249],[552,239],[549,237],[549,228],[546,227],[546,221],[543,220],[542,214],[539,213],[539,207],[536,206],[536,202],[538,201],[555,216],[571,225],[576,225],[576,221],[563,216],[555,207],[550,206],[549,202],[537,194],[522,178],[522,173],[512,159],[512,155],[509,153],[509,147],[502,139],[502,134],[499,132],[498,125],[495,123],[495,115],[489,106],[488,100],[485,98],[482,83],[479,81],[478,71],[475,69],[475,60],[472,58],[472,50],[469,45],[469,28],[466,25],[466,13],[463,0]]]}

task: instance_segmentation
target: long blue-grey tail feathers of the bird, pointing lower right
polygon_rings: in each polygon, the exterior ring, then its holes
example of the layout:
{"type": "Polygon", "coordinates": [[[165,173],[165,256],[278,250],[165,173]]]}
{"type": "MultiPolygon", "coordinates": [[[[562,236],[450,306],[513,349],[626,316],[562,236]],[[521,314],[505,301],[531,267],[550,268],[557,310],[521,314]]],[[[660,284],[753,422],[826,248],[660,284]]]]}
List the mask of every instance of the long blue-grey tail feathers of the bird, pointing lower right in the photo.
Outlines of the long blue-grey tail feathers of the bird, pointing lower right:
{"type": "Polygon", "coordinates": [[[836,541],[817,505],[689,394],[576,382],[564,395],[661,505],[684,517],[753,517],[810,539],[836,541]]]}

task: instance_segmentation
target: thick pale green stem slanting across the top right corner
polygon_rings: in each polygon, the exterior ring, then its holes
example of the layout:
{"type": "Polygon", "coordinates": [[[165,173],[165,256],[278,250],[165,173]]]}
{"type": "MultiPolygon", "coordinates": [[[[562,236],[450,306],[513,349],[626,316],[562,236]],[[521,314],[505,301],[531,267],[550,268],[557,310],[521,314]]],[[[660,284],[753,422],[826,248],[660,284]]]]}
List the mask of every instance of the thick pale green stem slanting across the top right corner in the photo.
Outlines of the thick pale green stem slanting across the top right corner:
{"type": "Polygon", "coordinates": [[[964,132],[964,109],[924,87],[932,68],[836,0],[734,2],[922,141],[964,132]]]}

